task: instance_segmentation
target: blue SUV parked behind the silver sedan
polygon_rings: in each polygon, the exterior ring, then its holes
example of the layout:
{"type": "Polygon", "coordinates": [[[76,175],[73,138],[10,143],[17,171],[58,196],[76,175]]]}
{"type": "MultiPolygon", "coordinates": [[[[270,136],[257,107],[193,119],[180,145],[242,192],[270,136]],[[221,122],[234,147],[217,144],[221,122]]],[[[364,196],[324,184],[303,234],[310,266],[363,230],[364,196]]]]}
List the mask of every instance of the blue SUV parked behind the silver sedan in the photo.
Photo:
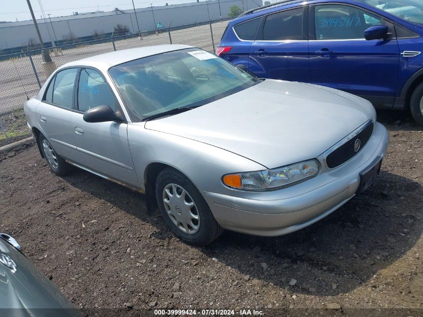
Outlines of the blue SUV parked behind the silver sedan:
{"type": "Polygon", "coordinates": [[[288,0],[229,22],[216,54],[260,78],[411,110],[423,125],[423,0],[288,0]]]}

